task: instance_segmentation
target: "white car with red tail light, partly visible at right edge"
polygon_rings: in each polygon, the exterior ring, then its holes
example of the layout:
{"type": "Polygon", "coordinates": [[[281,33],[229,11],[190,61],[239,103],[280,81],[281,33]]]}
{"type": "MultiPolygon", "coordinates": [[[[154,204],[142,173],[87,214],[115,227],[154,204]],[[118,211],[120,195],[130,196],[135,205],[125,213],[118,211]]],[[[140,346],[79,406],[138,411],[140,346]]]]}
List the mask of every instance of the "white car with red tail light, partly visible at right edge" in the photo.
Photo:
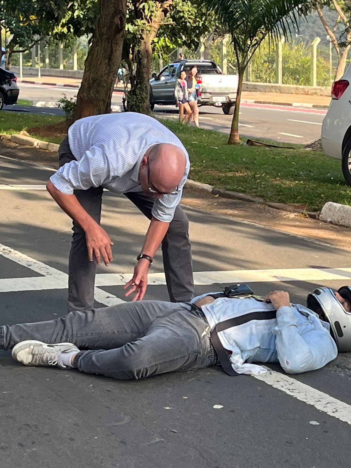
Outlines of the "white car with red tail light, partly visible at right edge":
{"type": "Polygon", "coordinates": [[[351,66],[331,88],[331,102],[322,124],[324,153],[341,159],[343,175],[351,185],[351,66]]]}

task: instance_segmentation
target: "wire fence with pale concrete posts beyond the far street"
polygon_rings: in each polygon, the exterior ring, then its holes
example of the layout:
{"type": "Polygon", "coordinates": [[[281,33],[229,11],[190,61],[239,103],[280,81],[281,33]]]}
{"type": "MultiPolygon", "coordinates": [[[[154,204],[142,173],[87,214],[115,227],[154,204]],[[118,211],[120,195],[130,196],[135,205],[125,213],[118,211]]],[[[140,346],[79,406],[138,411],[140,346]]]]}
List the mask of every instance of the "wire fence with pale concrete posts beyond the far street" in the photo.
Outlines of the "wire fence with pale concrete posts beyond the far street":
{"type": "MultiPolygon", "coordinates": [[[[179,52],[180,49],[175,49],[168,58],[154,60],[153,71],[177,59],[179,52]]],[[[212,59],[221,66],[223,73],[237,73],[234,49],[228,36],[212,39],[209,44],[202,42],[197,51],[182,49],[182,52],[188,59],[212,59]]],[[[21,66],[22,55],[22,66],[83,70],[87,53],[88,37],[72,41],[65,47],[51,41],[46,45],[37,44],[23,54],[14,54],[12,64],[21,66]]],[[[265,40],[250,60],[245,78],[261,83],[330,86],[337,64],[336,50],[326,37],[316,37],[312,42],[303,37],[295,37],[289,42],[283,38],[278,43],[265,40]]]]}

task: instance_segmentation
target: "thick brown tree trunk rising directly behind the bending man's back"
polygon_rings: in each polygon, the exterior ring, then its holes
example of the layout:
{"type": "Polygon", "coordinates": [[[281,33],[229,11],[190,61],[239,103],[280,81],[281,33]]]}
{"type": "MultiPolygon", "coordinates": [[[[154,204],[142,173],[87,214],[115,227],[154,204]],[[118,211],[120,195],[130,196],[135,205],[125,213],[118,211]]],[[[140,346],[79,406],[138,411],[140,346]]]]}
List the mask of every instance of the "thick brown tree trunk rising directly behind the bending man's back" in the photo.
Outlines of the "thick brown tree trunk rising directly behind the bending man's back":
{"type": "Polygon", "coordinates": [[[73,120],[111,111],[121,61],[126,0],[100,0],[94,37],[84,64],[73,120]]]}

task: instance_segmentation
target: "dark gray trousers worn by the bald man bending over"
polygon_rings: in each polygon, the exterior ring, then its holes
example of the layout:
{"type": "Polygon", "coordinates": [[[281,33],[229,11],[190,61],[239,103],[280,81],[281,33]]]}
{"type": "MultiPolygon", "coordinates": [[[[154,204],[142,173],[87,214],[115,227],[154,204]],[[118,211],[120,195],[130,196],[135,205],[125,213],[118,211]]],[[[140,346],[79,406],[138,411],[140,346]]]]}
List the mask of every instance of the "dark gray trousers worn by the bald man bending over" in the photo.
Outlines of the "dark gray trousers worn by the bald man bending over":
{"type": "MultiPolygon", "coordinates": [[[[68,138],[59,146],[59,165],[75,160],[68,138]]],[[[100,224],[102,187],[88,190],[75,190],[74,195],[88,214],[100,224]]],[[[124,194],[148,218],[154,199],[142,192],[124,194]]],[[[169,224],[162,241],[163,266],[166,276],[169,299],[172,302],[189,302],[193,298],[194,282],[192,276],[191,246],[189,241],[189,220],[178,205],[174,218],[169,224]]],[[[69,255],[68,312],[91,310],[94,307],[94,285],[96,263],[89,262],[85,233],[73,221],[73,240],[69,255]]]]}

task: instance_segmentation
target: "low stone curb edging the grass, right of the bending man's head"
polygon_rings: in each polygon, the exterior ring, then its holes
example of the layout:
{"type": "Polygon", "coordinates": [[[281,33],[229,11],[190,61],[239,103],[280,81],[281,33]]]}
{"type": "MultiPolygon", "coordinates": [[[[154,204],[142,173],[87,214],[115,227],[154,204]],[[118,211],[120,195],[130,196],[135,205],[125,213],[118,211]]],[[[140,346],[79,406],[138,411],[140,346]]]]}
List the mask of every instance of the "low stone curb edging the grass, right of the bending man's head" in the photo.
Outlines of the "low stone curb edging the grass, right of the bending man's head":
{"type": "Polygon", "coordinates": [[[215,187],[213,187],[213,185],[209,185],[207,183],[196,182],[191,179],[187,179],[185,183],[185,187],[201,190],[207,193],[210,192],[212,193],[212,195],[219,195],[220,197],[223,197],[223,198],[233,198],[235,200],[241,200],[241,201],[249,202],[249,203],[259,203],[261,205],[267,205],[267,206],[270,206],[271,208],[275,208],[276,210],[287,211],[290,213],[303,214],[303,215],[308,216],[308,218],[318,219],[318,215],[319,215],[319,212],[301,210],[298,208],[294,208],[290,205],[285,205],[284,203],[266,202],[261,197],[251,197],[250,195],[246,195],[245,193],[233,192],[231,190],[216,189],[215,187]]]}

